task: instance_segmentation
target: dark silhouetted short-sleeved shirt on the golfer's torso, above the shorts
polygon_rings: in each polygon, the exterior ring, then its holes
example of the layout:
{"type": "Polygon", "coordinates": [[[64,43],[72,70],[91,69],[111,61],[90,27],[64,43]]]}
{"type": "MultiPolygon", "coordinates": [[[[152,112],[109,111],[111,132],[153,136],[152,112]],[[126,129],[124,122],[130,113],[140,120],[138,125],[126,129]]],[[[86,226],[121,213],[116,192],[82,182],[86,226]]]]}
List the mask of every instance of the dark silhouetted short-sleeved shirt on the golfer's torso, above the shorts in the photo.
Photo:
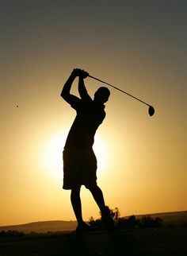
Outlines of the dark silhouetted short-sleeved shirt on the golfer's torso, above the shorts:
{"type": "Polygon", "coordinates": [[[71,130],[67,136],[64,149],[90,148],[94,142],[94,135],[98,126],[105,118],[105,105],[99,105],[92,99],[75,98],[71,107],[77,112],[71,130]]]}

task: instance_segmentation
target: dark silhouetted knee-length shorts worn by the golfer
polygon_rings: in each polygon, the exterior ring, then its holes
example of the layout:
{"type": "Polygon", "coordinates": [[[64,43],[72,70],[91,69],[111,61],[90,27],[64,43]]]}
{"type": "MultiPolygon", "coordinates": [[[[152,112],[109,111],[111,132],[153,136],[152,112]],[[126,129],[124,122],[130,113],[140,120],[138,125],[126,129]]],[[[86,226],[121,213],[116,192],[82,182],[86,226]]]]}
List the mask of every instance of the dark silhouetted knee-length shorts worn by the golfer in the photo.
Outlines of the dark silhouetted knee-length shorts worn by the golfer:
{"type": "Polygon", "coordinates": [[[93,149],[63,150],[63,189],[97,184],[97,159],[93,149]]]}

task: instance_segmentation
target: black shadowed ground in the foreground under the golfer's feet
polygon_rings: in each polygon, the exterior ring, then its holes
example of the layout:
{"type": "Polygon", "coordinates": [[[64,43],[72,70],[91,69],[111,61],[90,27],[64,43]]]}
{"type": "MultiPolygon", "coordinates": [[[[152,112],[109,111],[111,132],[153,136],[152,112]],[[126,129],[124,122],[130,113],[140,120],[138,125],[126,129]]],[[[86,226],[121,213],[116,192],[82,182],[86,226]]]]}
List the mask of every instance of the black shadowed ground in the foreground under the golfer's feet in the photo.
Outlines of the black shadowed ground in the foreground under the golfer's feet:
{"type": "Polygon", "coordinates": [[[25,235],[0,239],[0,256],[187,255],[187,227],[121,230],[109,234],[25,235]]]}

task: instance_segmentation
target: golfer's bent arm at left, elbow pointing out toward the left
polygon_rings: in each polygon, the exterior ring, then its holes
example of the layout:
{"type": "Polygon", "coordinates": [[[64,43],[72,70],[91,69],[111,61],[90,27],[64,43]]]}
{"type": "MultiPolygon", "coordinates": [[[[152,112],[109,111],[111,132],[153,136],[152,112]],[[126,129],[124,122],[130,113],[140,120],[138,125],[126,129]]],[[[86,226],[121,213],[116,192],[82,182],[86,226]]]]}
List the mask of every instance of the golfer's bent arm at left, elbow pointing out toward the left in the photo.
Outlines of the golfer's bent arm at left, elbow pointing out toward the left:
{"type": "Polygon", "coordinates": [[[60,94],[61,97],[64,100],[66,100],[66,102],[69,104],[71,104],[74,101],[74,99],[75,100],[78,99],[78,97],[71,95],[71,93],[70,93],[72,83],[74,82],[74,79],[76,78],[76,76],[77,76],[77,72],[74,69],[73,72],[71,72],[71,76],[67,79],[67,82],[64,84],[63,90],[60,94]]]}

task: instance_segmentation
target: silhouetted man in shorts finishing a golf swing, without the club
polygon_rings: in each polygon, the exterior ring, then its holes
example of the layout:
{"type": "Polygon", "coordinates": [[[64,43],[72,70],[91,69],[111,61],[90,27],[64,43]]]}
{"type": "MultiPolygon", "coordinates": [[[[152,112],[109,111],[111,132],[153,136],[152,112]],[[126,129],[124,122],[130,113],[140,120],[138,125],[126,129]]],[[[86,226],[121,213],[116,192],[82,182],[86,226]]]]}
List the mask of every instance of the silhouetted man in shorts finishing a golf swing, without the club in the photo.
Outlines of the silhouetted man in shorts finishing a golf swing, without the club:
{"type": "Polygon", "coordinates": [[[90,190],[101,210],[101,219],[108,230],[113,230],[113,219],[105,206],[101,188],[97,186],[97,159],[93,153],[94,135],[105,118],[105,105],[109,99],[109,89],[100,87],[90,98],[86,91],[84,79],[89,74],[79,68],[63,86],[61,96],[77,112],[63,150],[63,188],[71,189],[71,204],[78,221],[76,231],[87,231],[89,226],[82,219],[80,189],[82,185],[90,190]],[[71,95],[71,86],[78,76],[78,93],[80,98],[71,95]]]}

